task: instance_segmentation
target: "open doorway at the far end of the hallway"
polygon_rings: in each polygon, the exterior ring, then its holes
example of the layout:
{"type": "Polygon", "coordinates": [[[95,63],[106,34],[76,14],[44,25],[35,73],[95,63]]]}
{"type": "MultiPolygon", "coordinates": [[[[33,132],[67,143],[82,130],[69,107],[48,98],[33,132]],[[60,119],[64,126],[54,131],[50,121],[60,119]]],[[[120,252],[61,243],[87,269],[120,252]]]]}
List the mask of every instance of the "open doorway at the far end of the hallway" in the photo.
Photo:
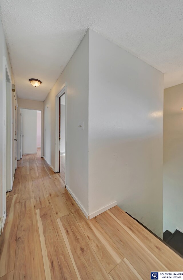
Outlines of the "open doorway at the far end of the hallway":
{"type": "Polygon", "coordinates": [[[41,111],[20,109],[20,153],[41,156],[41,111]]]}

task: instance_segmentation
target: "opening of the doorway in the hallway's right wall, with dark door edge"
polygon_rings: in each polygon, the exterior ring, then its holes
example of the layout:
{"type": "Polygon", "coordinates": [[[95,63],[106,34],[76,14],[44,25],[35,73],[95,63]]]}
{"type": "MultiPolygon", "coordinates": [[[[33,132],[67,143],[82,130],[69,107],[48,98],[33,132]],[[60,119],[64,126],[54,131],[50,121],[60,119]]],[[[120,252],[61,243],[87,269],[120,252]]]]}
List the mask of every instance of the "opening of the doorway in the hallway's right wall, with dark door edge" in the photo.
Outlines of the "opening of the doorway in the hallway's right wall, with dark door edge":
{"type": "Polygon", "coordinates": [[[59,97],[59,173],[65,183],[65,93],[59,97]]]}

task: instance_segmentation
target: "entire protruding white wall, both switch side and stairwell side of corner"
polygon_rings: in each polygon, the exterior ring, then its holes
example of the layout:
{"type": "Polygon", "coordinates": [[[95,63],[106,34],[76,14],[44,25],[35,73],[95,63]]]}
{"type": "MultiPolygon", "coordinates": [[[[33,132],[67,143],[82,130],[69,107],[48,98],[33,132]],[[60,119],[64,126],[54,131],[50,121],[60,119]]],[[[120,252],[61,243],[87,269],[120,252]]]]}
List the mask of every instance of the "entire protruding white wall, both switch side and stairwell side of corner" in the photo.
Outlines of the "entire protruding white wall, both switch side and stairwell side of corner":
{"type": "Polygon", "coordinates": [[[65,82],[67,185],[87,213],[117,200],[162,237],[163,74],[89,30],[44,102],[52,166],[55,96],[65,82]]]}

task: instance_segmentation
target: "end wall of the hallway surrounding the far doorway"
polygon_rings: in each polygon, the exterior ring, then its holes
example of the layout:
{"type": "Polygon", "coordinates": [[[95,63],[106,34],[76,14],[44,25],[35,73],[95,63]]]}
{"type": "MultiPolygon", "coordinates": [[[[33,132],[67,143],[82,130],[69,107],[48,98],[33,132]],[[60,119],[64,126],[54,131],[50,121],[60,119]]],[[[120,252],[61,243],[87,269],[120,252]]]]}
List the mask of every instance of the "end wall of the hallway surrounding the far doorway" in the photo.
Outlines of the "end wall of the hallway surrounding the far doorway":
{"type": "MultiPolygon", "coordinates": [[[[28,99],[22,99],[18,98],[18,104],[19,104],[19,116],[20,116],[20,109],[31,109],[31,110],[38,110],[41,111],[41,157],[44,156],[44,102],[42,101],[36,101],[36,100],[28,100],[28,99]]],[[[20,117],[19,117],[20,120],[20,117]]],[[[20,123],[19,123],[20,125],[20,123]]],[[[19,135],[20,137],[20,135],[19,135]]],[[[20,141],[19,141],[20,145],[20,141]]],[[[19,147],[20,150],[20,147],[19,147]]],[[[20,154],[19,154],[20,158],[20,154]]]]}

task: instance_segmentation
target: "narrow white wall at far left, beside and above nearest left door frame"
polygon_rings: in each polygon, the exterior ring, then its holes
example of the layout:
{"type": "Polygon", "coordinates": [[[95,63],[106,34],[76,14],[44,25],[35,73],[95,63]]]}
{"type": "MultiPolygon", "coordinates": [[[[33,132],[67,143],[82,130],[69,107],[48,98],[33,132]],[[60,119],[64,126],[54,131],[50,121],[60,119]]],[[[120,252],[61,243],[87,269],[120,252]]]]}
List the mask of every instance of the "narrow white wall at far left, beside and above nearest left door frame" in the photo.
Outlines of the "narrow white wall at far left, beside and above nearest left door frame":
{"type": "Polygon", "coordinates": [[[7,61],[8,69],[10,71],[11,81],[14,83],[13,74],[11,70],[11,63],[9,60],[9,53],[6,45],[6,40],[3,32],[3,27],[0,19],[0,218],[3,217],[4,212],[6,211],[6,160],[5,160],[5,151],[6,151],[6,94],[5,94],[5,68],[4,68],[4,59],[7,61]]]}

